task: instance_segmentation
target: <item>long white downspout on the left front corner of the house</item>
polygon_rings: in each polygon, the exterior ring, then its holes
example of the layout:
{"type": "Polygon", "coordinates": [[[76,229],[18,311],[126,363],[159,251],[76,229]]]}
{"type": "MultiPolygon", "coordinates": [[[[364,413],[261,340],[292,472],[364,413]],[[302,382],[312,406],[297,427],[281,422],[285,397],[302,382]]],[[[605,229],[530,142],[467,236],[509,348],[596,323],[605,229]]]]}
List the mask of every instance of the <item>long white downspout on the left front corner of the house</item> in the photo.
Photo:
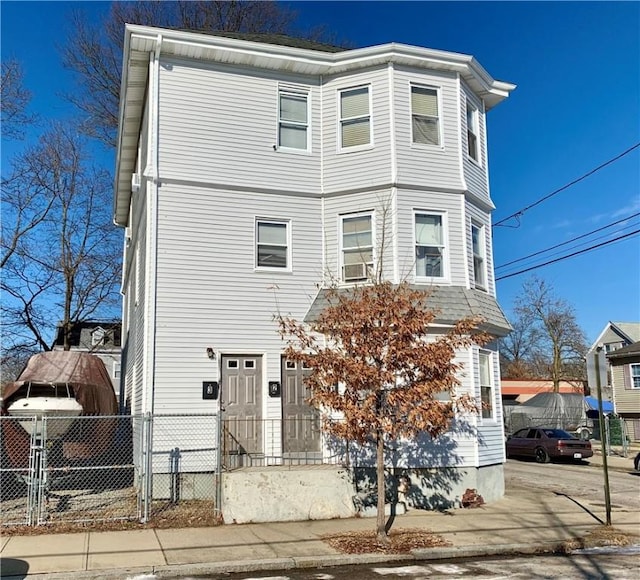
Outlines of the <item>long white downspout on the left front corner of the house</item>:
{"type": "Polygon", "coordinates": [[[155,401],[155,358],[156,358],[156,296],[157,296],[157,256],[158,256],[158,101],[160,93],[160,54],[162,35],[156,38],[156,49],[152,55],[151,82],[149,91],[149,154],[144,175],[147,182],[147,228],[145,263],[145,319],[144,319],[144,384],[145,396],[142,400],[143,413],[154,412],[155,401]]]}

